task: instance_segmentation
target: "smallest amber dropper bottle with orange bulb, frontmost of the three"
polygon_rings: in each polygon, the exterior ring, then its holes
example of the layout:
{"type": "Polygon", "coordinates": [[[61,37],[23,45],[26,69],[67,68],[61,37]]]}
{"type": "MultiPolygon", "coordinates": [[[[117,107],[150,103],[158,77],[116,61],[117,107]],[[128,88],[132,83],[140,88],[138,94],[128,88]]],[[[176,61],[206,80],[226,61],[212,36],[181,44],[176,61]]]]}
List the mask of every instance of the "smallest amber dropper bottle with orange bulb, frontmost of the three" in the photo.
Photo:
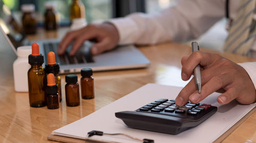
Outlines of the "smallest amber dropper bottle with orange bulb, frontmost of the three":
{"type": "Polygon", "coordinates": [[[55,77],[52,73],[47,75],[46,96],[48,109],[59,108],[58,85],[55,83],[55,77]]]}

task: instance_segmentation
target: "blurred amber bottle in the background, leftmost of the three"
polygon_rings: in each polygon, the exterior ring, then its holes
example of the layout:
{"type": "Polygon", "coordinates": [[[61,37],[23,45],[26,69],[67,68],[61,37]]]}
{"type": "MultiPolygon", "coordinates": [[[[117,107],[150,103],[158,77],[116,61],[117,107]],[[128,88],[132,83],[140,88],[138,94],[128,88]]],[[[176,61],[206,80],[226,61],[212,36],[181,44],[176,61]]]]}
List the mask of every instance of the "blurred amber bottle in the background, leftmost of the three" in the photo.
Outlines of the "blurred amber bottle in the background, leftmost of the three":
{"type": "Polygon", "coordinates": [[[35,16],[35,6],[32,4],[22,5],[22,24],[23,30],[26,34],[36,33],[36,16],[35,16]]]}

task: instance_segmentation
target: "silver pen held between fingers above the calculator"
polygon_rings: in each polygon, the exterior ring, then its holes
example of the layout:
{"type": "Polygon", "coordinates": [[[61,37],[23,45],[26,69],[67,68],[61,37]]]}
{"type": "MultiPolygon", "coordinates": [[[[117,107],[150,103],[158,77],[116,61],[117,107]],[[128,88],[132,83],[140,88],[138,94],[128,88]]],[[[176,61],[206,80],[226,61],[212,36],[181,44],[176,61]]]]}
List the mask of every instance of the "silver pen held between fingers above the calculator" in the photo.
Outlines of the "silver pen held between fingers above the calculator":
{"type": "MultiPolygon", "coordinates": [[[[191,45],[192,45],[192,52],[199,51],[199,46],[198,46],[197,42],[192,42],[191,45]]],[[[194,69],[194,75],[195,75],[195,82],[196,82],[196,85],[197,85],[197,90],[198,90],[199,93],[201,93],[202,81],[201,81],[201,69],[200,69],[199,64],[194,69]]]]}

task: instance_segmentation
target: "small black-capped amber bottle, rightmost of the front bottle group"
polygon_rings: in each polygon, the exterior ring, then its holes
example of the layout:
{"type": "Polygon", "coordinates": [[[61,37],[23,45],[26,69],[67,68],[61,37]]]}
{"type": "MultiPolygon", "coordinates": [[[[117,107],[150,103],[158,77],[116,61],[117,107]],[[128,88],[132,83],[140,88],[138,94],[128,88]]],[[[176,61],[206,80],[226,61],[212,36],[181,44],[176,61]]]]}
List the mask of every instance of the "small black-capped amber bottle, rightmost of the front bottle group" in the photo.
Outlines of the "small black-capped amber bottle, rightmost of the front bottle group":
{"type": "Polygon", "coordinates": [[[90,68],[81,69],[81,96],[83,99],[94,98],[93,70],[90,68]]]}

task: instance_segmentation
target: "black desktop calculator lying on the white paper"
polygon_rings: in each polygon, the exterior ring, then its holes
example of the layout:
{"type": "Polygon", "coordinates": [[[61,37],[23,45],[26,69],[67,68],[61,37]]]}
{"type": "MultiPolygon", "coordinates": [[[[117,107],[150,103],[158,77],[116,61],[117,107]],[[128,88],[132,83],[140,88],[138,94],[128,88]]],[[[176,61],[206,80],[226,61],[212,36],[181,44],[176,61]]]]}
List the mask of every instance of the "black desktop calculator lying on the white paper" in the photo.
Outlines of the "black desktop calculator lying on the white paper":
{"type": "Polygon", "coordinates": [[[179,134],[196,127],[214,115],[216,106],[187,102],[177,106],[175,100],[158,99],[135,111],[116,112],[115,116],[131,128],[179,134]]]}

